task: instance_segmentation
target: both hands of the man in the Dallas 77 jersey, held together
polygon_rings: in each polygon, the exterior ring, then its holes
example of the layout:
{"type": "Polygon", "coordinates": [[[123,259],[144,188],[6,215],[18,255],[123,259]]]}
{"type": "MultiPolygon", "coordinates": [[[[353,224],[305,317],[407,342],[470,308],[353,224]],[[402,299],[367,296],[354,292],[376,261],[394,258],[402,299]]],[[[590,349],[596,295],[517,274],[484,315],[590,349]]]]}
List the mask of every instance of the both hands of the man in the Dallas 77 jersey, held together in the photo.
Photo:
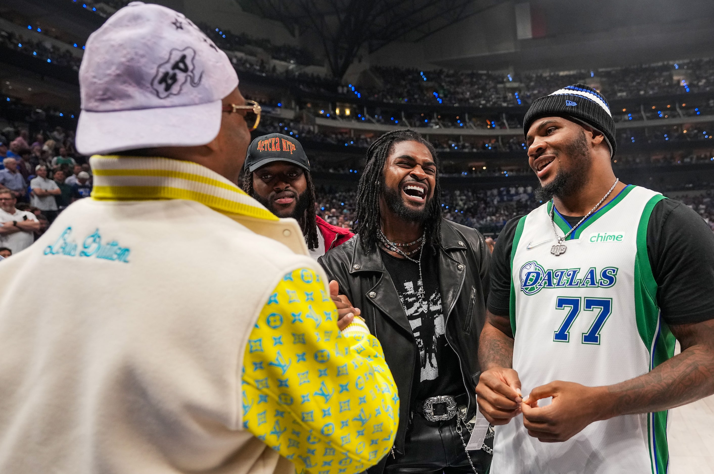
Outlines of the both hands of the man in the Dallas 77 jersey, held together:
{"type": "Polygon", "coordinates": [[[568,440],[593,421],[610,418],[606,387],[553,381],[533,388],[523,398],[518,373],[503,367],[481,374],[476,395],[478,408],[489,423],[506,425],[523,413],[528,434],[543,443],[568,440]],[[539,407],[538,400],[548,397],[553,397],[550,405],[539,407]]]}

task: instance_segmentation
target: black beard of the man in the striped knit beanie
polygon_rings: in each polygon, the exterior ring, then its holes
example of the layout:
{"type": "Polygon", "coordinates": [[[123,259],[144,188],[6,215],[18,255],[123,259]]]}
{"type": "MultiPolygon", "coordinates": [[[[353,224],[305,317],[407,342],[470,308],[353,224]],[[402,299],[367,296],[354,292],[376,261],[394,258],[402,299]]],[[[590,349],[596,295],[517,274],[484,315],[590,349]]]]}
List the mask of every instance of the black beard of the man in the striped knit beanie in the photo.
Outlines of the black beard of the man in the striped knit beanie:
{"type": "MultiPolygon", "coordinates": [[[[573,163],[576,161],[578,163],[573,166],[572,170],[563,170],[563,168],[560,168],[558,173],[555,174],[553,181],[545,186],[538,186],[534,195],[535,199],[540,202],[549,201],[553,196],[568,197],[573,195],[583,187],[588,180],[588,174],[593,163],[590,158],[585,132],[580,130],[580,135],[568,143],[568,145],[565,145],[563,152],[573,160],[573,163]],[[578,160],[578,158],[580,158],[580,160],[578,160]]],[[[557,160],[560,152],[555,151],[554,154],[555,160],[557,160]]]]}

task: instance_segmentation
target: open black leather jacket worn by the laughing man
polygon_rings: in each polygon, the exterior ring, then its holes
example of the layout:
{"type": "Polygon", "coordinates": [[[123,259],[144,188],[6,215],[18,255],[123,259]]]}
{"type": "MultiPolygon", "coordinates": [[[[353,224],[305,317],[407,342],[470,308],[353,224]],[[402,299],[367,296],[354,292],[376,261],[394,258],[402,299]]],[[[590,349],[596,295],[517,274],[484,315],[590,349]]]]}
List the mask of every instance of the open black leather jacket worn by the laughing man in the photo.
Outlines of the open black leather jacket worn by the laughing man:
{"type": "MultiPolygon", "coordinates": [[[[491,252],[481,233],[446,219],[441,221],[438,268],[441,304],[446,311],[446,340],[461,361],[464,390],[469,398],[469,419],[476,413],[474,390],[481,374],[478,336],[486,321],[490,259],[491,252]]],[[[411,405],[416,401],[412,383],[419,353],[396,287],[378,249],[363,252],[359,235],[330,250],[318,262],[328,277],[340,284],[340,293],[361,309],[371,333],[382,344],[399,391],[399,428],[394,441],[398,456],[404,453],[407,421],[413,411],[411,405]]]]}

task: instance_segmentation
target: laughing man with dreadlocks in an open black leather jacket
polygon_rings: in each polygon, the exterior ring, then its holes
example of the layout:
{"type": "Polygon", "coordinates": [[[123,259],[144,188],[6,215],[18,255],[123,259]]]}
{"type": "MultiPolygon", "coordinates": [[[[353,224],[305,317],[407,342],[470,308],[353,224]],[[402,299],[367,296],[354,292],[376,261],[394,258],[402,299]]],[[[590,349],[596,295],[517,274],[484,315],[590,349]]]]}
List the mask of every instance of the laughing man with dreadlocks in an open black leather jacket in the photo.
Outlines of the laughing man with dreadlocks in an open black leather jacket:
{"type": "Polygon", "coordinates": [[[465,449],[489,287],[483,236],[441,217],[436,152],[413,130],[370,146],[356,207],[356,237],[318,261],[361,309],[399,388],[394,446],[370,473],[486,472],[490,448],[465,449]]]}

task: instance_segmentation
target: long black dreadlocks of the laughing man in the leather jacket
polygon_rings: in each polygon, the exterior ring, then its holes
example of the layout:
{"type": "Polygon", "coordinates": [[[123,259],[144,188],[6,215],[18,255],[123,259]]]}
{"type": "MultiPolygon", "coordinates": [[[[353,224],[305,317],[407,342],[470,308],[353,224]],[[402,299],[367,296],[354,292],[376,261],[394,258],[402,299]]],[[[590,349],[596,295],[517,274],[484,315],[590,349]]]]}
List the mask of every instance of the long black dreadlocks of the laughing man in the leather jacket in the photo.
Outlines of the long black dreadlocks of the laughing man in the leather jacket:
{"type": "MultiPolygon", "coordinates": [[[[378,242],[377,232],[381,228],[379,199],[384,182],[384,164],[396,143],[414,141],[428,148],[438,167],[438,157],[433,145],[425,140],[416,130],[393,130],[387,132],[367,149],[366,165],[357,186],[356,222],[354,232],[360,235],[362,249],[369,252],[378,242]]],[[[429,215],[424,221],[426,243],[434,252],[440,242],[441,235],[441,186],[438,180],[438,168],[434,195],[428,204],[429,215]]]]}

